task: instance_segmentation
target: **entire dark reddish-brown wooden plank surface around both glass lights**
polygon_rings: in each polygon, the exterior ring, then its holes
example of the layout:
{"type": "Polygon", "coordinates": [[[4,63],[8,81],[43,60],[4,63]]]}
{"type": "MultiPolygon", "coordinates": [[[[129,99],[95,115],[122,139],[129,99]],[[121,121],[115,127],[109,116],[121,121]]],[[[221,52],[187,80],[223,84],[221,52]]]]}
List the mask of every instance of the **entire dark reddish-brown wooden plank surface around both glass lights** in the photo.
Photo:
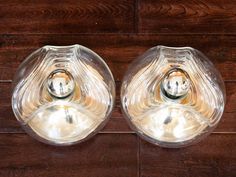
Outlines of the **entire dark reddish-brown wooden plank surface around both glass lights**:
{"type": "Polygon", "coordinates": [[[1,177],[235,177],[235,0],[0,0],[1,177]],[[85,143],[53,147],[20,128],[11,109],[11,82],[24,58],[44,45],[84,45],[108,63],[117,83],[114,113],[85,143]],[[155,45],[191,46],[221,72],[225,113],[208,138],[183,149],[141,140],[124,120],[122,77],[155,45]]]}

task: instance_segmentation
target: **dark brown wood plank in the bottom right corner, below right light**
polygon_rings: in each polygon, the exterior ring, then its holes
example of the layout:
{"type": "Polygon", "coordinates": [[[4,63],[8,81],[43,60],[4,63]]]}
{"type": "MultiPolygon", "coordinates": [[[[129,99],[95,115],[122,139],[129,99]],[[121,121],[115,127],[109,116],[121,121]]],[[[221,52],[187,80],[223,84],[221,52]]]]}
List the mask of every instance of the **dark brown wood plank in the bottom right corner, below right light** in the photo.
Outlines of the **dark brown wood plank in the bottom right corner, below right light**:
{"type": "Polygon", "coordinates": [[[164,149],[141,140],[141,177],[236,176],[236,134],[212,134],[182,149],[164,149]]]}

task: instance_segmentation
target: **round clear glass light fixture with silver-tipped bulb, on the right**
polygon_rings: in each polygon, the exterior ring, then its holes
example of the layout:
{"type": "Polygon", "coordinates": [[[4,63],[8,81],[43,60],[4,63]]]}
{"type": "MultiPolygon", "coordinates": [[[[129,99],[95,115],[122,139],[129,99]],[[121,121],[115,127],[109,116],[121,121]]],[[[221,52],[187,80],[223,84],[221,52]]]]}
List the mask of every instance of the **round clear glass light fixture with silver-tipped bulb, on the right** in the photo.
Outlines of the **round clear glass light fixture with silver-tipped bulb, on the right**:
{"type": "Polygon", "coordinates": [[[156,46],[131,64],[121,103],[141,137],[178,148],[200,141],[216,127],[224,111],[225,87],[198,50],[156,46]]]}

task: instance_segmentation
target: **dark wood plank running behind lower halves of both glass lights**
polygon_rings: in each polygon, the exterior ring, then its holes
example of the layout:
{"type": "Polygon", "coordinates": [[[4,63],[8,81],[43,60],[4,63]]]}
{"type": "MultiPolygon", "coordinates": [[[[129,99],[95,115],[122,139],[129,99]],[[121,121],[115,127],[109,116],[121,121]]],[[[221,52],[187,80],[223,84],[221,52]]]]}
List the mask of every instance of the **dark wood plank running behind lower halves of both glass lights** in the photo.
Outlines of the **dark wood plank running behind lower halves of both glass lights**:
{"type": "MultiPolygon", "coordinates": [[[[116,106],[112,116],[101,132],[133,132],[124,116],[120,107],[120,83],[117,83],[116,106]]],[[[236,82],[226,82],[227,103],[225,113],[215,132],[236,132],[236,82]]],[[[0,106],[0,133],[1,132],[24,132],[19,126],[11,109],[11,83],[0,83],[2,101],[0,106]]]]}

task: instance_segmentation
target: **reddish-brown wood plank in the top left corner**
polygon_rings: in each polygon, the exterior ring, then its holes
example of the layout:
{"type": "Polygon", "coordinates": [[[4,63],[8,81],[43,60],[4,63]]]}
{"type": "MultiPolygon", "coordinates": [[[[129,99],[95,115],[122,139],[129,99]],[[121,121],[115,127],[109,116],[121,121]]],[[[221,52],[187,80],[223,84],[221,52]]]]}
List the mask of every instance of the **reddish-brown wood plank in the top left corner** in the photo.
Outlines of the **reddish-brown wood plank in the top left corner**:
{"type": "Polygon", "coordinates": [[[0,2],[0,33],[133,32],[134,0],[0,2]]]}

